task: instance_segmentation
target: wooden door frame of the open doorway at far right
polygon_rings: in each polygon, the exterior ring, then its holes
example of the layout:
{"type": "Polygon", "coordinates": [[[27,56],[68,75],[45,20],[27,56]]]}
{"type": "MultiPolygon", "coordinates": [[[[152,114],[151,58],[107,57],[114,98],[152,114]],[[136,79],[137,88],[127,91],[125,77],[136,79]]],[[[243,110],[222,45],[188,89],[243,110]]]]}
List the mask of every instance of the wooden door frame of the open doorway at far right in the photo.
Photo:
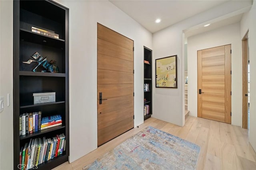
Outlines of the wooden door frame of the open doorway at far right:
{"type": "Polygon", "coordinates": [[[248,33],[242,38],[242,128],[248,129],[248,33]]]}

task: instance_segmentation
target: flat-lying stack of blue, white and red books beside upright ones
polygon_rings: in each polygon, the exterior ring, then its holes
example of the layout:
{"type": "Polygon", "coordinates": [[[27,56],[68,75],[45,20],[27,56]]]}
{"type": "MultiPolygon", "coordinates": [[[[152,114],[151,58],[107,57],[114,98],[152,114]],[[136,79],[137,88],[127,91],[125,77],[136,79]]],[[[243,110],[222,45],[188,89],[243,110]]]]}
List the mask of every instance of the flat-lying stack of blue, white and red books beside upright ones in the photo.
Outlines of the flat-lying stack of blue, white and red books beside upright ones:
{"type": "Polygon", "coordinates": [[[41,122],[41,130],[59,125],[62,125],[61,115],[43,117],[41,122]]]}

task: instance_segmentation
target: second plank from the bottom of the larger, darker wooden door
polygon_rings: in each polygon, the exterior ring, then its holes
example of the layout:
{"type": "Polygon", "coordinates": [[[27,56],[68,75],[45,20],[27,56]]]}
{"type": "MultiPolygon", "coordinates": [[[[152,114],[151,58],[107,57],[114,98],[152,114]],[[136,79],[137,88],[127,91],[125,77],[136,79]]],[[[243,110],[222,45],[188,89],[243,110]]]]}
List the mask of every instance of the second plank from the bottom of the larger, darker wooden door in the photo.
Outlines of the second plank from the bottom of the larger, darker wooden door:
{"type": "Polygon", "coordinates": [[[125,107],[108,113],[98,113],[98,130],[114,125],[122,119],[133,117],[133,108],[125,107]]]}

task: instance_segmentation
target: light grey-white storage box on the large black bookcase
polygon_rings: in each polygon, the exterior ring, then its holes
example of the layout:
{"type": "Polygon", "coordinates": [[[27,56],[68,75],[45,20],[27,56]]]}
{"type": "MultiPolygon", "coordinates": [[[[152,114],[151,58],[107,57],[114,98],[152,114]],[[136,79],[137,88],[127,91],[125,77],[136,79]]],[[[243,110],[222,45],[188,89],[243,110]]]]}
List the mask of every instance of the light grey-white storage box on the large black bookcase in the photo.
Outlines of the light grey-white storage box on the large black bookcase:
{"type": "Polygon", "coordinates": [[[34,104],[55,102],[55,92],[33,93],[34,104]]]}

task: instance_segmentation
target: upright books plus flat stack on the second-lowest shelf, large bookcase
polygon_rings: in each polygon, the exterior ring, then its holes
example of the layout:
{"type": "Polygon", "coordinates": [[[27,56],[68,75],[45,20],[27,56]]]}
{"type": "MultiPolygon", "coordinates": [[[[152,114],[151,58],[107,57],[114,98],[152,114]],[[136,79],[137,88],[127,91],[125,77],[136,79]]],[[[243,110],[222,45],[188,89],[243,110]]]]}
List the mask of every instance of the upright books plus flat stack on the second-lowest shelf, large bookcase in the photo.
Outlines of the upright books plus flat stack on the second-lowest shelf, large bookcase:
{"type": "Polygon", "coordinates": [[[42,117],[42,112],[23,113],[19,119],[20,135],[38,132],[62,125],[61,115],[42,117]]]}

